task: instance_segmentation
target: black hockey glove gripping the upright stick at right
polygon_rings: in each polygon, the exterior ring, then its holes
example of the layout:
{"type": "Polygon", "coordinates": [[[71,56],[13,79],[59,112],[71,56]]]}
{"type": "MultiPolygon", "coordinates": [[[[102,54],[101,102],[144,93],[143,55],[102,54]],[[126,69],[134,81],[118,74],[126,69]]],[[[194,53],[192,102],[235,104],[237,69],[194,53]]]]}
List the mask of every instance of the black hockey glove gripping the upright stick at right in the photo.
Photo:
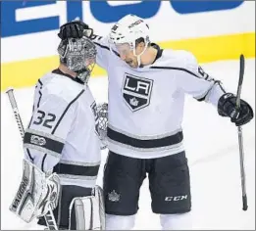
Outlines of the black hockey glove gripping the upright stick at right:
{"type": "Polygon", "coordinates": [[[232,93],[224,94],[218,102],[218,113],[222,116],[229,116],[231,122],[236,126],[241,126],[249,122],[253,118],[253,111],[251,106],[240,100],[240,110],[235,109],[236,97],[232,93]]]}

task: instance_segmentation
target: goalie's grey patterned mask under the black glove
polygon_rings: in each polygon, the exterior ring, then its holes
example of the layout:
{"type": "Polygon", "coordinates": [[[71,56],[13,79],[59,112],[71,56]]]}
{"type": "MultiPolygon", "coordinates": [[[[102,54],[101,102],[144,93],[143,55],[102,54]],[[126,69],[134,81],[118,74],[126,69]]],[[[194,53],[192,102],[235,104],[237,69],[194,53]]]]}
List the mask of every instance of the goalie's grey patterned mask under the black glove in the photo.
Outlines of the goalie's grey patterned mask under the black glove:
{"type": "Polygon", "coordinates": [[[68,69],[77,72],[77,78],[84,83],[88,82],[90,73],[95,65],[96,47],[92,41],[83,36],[82,38],[68,38],[62,40],[58,53],[61,62],[68,69]]]}

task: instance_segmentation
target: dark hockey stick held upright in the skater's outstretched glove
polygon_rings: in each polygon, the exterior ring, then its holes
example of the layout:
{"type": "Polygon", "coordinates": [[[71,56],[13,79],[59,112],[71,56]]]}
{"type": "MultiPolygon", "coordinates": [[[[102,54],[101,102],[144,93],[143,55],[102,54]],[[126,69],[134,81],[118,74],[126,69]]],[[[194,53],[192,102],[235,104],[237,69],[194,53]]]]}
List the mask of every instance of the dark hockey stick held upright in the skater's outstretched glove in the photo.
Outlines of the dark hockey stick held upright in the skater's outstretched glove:
{"type": "MultiPolygon", "coordinates": [[[[243,81],[244,74],[244,56],[240,55],[240,72],[239,72],[239,80],[237,86],[236,93],[236,110],[239,112],[240,110],[240,95],[241,95],[241,87],[243,81]]],[[[242,140],[242,127],[237,127],[238,131],[238,142],[239,142],[239,156],[240,156],[240,174],[241,174],[241,188],[242,188],[242,209],[247,210],[247,194],[246,194],[246,186],[245,186],[245,172],[244,172],[244,155],[243,155],[243,140],[242,140]]]]}

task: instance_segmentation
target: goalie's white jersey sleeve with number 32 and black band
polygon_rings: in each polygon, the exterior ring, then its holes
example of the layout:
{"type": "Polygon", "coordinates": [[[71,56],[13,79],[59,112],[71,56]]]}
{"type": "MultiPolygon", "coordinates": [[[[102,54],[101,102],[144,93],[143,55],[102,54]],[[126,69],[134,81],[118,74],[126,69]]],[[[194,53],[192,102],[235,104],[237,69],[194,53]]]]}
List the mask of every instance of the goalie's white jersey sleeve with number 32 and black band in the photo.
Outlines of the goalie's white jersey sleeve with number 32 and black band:
{"type": "Polygon", "coordinates": [[[57,95],[40,100],[35,94],[31,120],[24,137],[26,159],[43,171],[51,171],[60,159],[76,115],[76,104],[57,95]],[[47,158],[46,158],[47,156],[47,158]]]}

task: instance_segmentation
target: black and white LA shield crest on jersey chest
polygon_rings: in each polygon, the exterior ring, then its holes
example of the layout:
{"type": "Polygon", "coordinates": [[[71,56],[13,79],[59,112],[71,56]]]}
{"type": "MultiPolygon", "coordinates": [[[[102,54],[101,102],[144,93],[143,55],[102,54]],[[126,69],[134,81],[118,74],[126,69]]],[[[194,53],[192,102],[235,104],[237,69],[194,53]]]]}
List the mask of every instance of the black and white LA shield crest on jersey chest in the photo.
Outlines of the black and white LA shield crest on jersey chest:
{"type": "Polygon", "coordinates": [[[132,111],[138,111],[150,104],[153,80],[126,73],[123,85],[123,97],[132,111]]]}

